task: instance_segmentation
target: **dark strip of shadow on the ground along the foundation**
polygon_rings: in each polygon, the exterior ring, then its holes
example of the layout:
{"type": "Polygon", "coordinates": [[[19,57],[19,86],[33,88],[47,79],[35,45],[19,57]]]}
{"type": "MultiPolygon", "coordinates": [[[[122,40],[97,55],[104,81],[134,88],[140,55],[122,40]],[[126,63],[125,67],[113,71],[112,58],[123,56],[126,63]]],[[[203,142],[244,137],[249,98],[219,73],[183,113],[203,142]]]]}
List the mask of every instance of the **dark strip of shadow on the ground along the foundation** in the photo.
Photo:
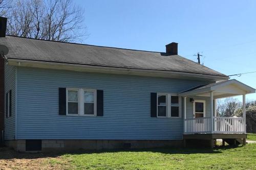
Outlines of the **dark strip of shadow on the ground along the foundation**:
{"type": "Polygon", "coordinates": [[[70,154],[101,154],[101,153],[118,153],[118,152],[152,152],[161,154],[220,154],[223,150],[233,147],[209,148],[153,148],[153,149],[127,149],[127,150],[78,150],[73,152],[53,152],[53,153],[19,153],[9,148],[0,148],[1,159],[37,159],[37,158],[56,158],[58,156],[70,154]]]}

